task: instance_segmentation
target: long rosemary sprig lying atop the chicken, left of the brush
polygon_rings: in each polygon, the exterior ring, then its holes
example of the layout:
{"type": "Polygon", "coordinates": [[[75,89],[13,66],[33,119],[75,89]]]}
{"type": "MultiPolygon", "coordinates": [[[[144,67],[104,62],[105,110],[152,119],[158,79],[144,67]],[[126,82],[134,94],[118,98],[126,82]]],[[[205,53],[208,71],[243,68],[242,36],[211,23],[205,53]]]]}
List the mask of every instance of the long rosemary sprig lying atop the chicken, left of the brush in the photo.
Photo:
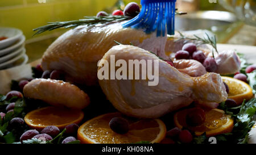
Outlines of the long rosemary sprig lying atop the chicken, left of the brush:
{"type": "Polygon", "coordinates": [[[67,22],[49,22],[48,25],[35,28],[33,31],[36,31],[34,35],[38,35],[40,33],[46,32],[46,31],[52,31],[56,28],[71,28],[71,27],[77,27],[80,25],[88,25],[88,26],[95,26],[96,24],[105,24],[110,22],[122,22],[124,20],[129,20],[132,17],[129,16],[85,16],[84,19],[79,20],[72,20],[67,22]]]}

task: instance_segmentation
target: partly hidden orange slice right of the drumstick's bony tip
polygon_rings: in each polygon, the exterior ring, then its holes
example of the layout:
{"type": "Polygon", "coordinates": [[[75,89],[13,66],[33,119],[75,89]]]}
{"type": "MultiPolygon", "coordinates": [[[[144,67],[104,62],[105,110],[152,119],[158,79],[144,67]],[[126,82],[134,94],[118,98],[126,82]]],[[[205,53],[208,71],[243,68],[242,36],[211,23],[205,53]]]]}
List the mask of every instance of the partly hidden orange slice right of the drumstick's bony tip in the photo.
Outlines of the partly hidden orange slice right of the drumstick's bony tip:
{"type": "Polygon", "coordinates": [[[237,104],[242,104],[243,99],[253,98],[253,89],[247,83],[230,77],[222,77],[222,80],[229,86],[228,98],[236,100],[237,104]]]}

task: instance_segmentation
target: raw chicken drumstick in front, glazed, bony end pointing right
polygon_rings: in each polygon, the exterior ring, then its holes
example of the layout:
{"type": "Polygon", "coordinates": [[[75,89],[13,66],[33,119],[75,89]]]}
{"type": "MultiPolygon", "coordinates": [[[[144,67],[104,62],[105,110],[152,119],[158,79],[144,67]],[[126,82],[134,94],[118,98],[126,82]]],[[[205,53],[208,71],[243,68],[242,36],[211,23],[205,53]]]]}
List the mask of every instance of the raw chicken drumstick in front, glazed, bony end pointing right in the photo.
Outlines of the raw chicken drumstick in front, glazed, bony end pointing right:
{"type": "MultiPolygon", "coordinates": [[[[99,80],[106,97],[123,114],[137,118],[158,118],[188,106],[193,100],[220,103],[228,97],[219,74],[207,73],[201,77],[191,77],[152,53],[131,45],[111,48],[99,62],[98,70],[106,61],[110,64],[111,55],[115,55],[115,61],[125,60],[127,64],[129,60],[159,60],[159,84],[156,86],[148,86],[147,79],[99,80]]],[[[154,63],[151,65],[154,68],[154,63]]],[[[127,75],[129,73],[130,70],[127,75]]]]}

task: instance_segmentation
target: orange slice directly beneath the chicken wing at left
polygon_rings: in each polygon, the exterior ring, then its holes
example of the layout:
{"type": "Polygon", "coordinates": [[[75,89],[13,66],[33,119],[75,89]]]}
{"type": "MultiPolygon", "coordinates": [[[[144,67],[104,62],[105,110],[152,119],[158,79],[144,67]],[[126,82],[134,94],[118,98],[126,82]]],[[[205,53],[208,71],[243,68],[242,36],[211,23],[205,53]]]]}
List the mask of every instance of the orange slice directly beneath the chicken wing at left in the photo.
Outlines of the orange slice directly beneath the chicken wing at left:
{"type": "Polygon", "coordinates": [[[80,110],[72,110],[65,107],[44,107],[28,112],[24,117],[28,126],[39,131],[49,125],[55,125],[64,129],[71,123],[79,124],[84,118],[84,113],[80,110]]]}

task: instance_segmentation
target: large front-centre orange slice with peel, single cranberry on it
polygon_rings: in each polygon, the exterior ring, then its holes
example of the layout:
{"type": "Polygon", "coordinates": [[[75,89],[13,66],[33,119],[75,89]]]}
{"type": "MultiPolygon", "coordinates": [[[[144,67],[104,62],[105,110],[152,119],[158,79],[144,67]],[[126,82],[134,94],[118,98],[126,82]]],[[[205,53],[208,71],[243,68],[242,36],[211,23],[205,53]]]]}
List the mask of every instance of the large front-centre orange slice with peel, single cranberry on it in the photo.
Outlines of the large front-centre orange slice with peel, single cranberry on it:
{"type": "Polygon", "coordinates": [[[131,144],[139,141],[160,143],[166,136],[166,125],[159,119],[127,118],[119,112],[98,116],[79,127],[77,139],[84,144],[131,144]],[[129,122],[129,132],[118,134],[109,127],[112,118],[122,117],[129,122]]]}

